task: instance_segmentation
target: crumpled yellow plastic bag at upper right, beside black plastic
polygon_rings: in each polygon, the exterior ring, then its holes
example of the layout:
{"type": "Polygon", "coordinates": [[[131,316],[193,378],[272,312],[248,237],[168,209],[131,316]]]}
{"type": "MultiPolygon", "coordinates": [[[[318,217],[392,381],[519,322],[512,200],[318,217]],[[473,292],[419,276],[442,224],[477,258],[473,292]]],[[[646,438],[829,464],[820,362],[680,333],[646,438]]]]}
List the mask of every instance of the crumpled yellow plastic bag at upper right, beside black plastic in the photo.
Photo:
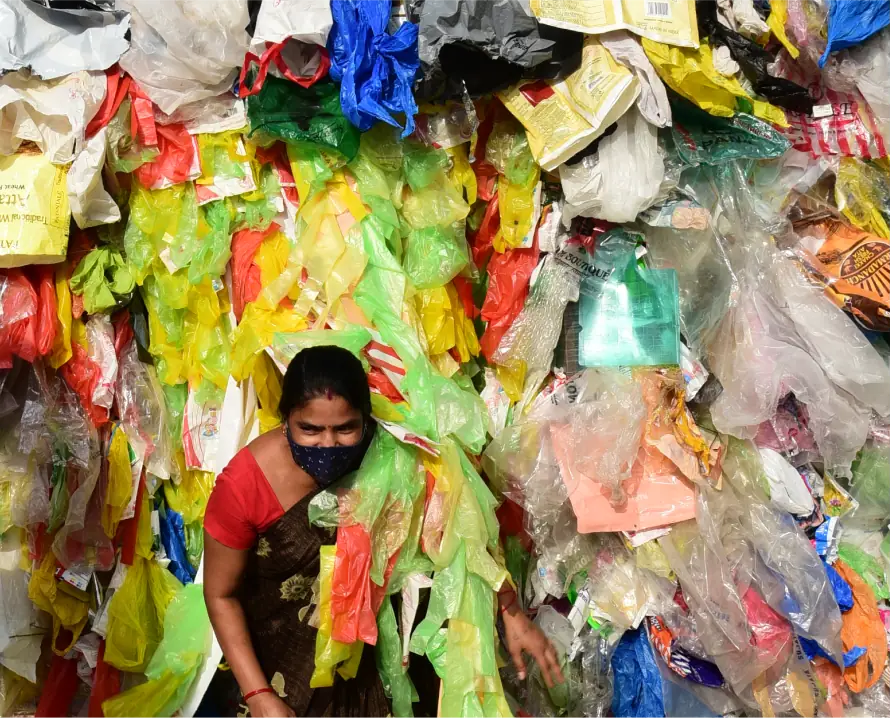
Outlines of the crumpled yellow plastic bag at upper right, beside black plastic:
{"type": "Polygon", "coordinates": [[[724,77],[715,69],[707,42],[695,50],[646,39],[641,44],[665,84],[709,114],[732,117],[743,111],[780,127],[789,126],[780,108],[750,97],[739,80],[724,77]]]}

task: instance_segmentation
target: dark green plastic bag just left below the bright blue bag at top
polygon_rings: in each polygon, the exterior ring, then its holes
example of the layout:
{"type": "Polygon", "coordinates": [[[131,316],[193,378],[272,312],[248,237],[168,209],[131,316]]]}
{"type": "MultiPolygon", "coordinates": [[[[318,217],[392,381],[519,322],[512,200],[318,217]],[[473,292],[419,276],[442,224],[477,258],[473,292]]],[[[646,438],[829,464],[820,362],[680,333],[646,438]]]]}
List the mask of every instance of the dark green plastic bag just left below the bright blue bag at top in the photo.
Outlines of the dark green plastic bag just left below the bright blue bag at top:
{"type": "Polygon", "coordinates": [[[262,132],[288,143],[326,148],[347,162],[359,151],[359,130],[344,117],[333,82],[305,88],[269,76],[259,94],[248,97],[247,111],[251,135],[262,132]]]}

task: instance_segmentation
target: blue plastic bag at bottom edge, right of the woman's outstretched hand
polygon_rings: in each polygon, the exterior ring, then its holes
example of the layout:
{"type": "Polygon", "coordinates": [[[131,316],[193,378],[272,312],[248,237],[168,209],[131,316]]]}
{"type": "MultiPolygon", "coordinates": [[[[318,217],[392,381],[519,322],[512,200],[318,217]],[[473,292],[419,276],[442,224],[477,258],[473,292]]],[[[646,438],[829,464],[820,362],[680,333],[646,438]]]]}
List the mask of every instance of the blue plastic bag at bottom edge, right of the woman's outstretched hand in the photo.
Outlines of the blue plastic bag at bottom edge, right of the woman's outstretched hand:
{"type": "Polygon", "coordinates": [[[615,718],[659,718],[662,704],[662,676],[643,624],[626,631],[613,653],[613,715],[615,718]]]}

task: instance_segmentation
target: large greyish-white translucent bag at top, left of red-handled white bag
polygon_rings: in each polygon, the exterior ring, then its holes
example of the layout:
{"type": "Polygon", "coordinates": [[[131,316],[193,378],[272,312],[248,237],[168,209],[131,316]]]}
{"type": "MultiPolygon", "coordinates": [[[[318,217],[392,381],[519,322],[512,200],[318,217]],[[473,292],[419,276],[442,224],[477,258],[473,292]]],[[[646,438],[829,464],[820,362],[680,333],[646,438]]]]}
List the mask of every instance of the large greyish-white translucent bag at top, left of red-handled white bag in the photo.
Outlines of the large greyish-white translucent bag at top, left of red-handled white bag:
{"type": "Polygon", "coordinates": [[[121,67],[162,112],[232,86],[248,48],[247,3],[120,0],[118,7],[132,23],[121,67]]]}

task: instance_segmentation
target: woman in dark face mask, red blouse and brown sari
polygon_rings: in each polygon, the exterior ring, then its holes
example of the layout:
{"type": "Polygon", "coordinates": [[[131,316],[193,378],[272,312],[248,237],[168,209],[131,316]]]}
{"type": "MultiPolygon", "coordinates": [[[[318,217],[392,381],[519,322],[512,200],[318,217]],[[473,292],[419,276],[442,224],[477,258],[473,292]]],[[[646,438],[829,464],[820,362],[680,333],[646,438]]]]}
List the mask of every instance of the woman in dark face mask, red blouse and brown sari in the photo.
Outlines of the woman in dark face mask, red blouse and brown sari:
{"type": "MultiPolygon", "coordinates": [[[[301,620],[319,547],[334,542],[333,533],[310,525],[307,508],[321,489],[358,468],[374,434],[362,364],[339,347],[303,350],[285,373],[279,412],[282,429],[235,455],[207,505],[204,598],[214,632],[253,718],[384,718],[389,704],[371,650],[354,679],[336,690],[310,688],[315,629],[301,620]],[[269,684],[276,673],[284,677],[284,698],[269,684]]],[[[525,650],[548,685],[551,674],[562,681],[553,648],[518,610],[513,592],[499,601],[521,677],[525,650]]]]}

